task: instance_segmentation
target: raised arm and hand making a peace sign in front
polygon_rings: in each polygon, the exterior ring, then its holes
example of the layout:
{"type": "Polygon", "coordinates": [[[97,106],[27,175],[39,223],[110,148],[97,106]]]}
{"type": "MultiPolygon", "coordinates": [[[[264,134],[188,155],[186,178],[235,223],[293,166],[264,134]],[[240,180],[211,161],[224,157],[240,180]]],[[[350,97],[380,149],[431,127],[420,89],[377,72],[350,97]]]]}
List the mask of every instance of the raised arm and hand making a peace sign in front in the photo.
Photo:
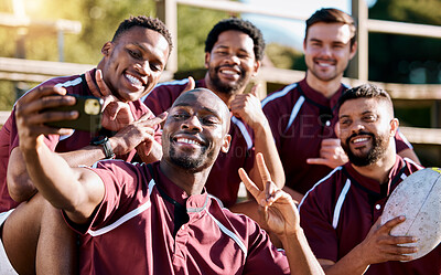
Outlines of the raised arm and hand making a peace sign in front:
{"type": "Polygon", "coordinates": [[[262,208],[261,212],[268,228],[282,242],[291,274],[324,274],[308,244],[303,230],[300,228],[299,211],[291,195],[283,192],[271,181],[271,176],[261,154],[256,156],[256,160],[261,181],[265,182],[263,190],[259,189],[248,178],[244,169],[239,170],[239,176],[259,207],[262,208]]]}

